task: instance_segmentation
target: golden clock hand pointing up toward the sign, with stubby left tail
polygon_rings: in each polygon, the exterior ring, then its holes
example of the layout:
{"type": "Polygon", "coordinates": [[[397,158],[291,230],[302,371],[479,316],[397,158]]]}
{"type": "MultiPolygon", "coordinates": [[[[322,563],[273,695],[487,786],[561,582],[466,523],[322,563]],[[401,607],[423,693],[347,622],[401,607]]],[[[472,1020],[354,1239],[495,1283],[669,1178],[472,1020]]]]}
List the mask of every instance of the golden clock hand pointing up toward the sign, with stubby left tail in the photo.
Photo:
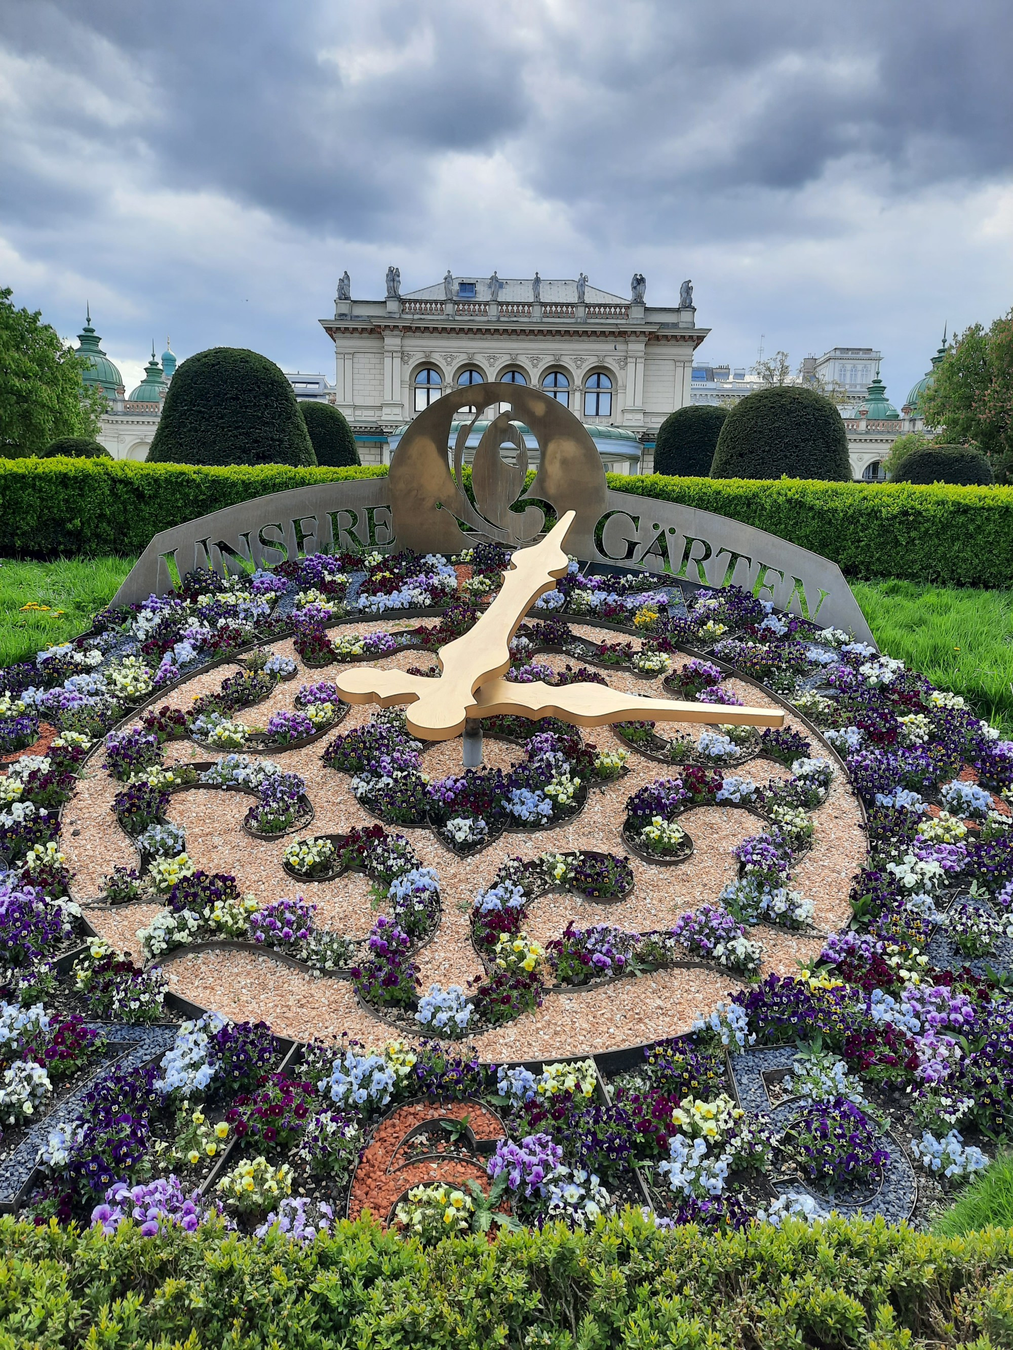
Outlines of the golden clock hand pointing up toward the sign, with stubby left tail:
{"type": "Polygon", "coordinates": [[[342,671],[335,680],[342,697],[350,703],[408,703],[408,730],[423,740],[458,736],[465,718],[473,716],[475,688],[509,670],[511,639],[528,609],[566,575],[569,559],[562,545],[575,514],[566,512],[539,544],[515,552],[492,605],[463,637],[440,647],[439,679],[401,671],[342,671]]]}

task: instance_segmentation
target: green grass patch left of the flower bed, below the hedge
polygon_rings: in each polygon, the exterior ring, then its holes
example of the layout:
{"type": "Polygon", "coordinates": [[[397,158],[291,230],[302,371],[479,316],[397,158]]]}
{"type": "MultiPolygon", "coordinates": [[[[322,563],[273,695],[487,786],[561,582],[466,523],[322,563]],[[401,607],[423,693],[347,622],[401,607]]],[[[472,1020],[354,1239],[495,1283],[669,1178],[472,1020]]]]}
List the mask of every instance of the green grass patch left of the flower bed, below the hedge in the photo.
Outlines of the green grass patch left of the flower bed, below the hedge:
{"type": "Polygon", "coordinates": [[[92,626],[134,558],[0,562],[0,666],[31,660],[41,647],[66,643],[92,626]],[[27,609],[26,605],[38,606],[27,609]]]}

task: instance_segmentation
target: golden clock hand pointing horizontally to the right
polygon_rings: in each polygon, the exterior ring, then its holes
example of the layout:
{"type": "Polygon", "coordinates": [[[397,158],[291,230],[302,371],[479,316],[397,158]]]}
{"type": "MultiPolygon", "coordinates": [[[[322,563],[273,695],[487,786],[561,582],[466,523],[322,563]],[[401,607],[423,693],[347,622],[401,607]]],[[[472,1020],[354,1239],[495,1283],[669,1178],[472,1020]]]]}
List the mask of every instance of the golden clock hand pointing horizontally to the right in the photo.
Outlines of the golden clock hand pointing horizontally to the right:
{"type": "Polygon", "coordinates": [[[725,726],[783,726],[779,709],[735,707],[725,703],[683,703],[671,698],[640,698],[604,684],[562,684],[542,680],[517,684],[492,679],[475,690],[469,717],[496,717],[520,713],[532,720],[558,717],[573,726],[602,726],[606,722],[710,722],[725,726]]]}

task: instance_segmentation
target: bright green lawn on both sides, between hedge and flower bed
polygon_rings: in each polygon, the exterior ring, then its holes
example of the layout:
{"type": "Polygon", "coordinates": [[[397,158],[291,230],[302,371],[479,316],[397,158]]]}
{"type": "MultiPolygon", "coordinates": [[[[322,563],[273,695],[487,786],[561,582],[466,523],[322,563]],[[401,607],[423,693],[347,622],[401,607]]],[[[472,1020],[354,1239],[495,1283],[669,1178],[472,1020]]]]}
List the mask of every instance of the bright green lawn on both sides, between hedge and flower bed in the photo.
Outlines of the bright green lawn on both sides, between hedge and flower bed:
{"type": "MultiPolygon", "coordinates": [[[[89,626],[134,564],[130,558],[0,563],[0,666],[89,626]],[[26,605],[49,609],[24,610],[26,605]]],[[[917,582],[854,582],[877,643],[940,688],[963,694],[1013,734],[1013,593],[917,582]]]]}

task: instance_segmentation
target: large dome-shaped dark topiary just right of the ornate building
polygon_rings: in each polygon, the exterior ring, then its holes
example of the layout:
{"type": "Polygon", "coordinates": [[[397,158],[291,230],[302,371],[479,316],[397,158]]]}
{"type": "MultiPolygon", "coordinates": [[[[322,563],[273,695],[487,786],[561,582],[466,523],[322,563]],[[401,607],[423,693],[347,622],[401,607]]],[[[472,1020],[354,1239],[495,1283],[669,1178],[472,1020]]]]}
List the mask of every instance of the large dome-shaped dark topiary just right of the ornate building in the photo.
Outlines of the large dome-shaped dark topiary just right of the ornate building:
{"type": "Polygon", "coordinates": [[[819,478],[851,482],[848,435],[825,394],[774,385],[743,398],[717,439],[712,478],[819,478]]]}

